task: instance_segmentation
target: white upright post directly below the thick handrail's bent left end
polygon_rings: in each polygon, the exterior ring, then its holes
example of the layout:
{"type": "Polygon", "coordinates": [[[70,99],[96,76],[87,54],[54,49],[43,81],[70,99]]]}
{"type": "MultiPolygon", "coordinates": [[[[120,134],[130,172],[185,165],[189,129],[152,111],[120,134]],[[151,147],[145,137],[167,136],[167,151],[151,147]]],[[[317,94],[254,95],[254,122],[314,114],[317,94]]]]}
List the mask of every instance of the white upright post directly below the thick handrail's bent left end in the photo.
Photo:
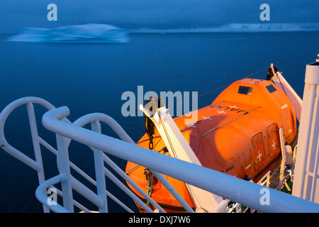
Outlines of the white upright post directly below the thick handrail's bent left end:
{"type": "Polygon", "coordinates": [[[74,212],[73,195],[72,195],[72,179],[69,168],[69,152],[68,140],[62,135],[57,135],[57,168],[63,177],[61,182],[63,193],[63,206],[70,212],[74,212]]]}

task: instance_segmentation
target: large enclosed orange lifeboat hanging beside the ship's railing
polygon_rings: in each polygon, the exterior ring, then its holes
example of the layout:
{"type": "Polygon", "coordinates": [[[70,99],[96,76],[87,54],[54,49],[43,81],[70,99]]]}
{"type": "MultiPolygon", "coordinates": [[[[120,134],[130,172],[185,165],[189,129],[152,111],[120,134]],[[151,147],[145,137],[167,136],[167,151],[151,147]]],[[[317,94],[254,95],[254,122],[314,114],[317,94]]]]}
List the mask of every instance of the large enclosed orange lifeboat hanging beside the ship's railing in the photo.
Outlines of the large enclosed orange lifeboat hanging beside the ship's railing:
{"type": "MultiPolygon", "coordinates": [[[[198,109],[197,114],[198,121],[192,125],[185,124],[187,116],[174,118],[174,122],[201,165],[254,182],[280,165],[279,129],[283,129],[285,143],[289,145],[297,134],[296,115],[291,102],[268,80],[242,79],[234,82],[210,106],[198,109]]],[[[137,144],[148,149],[149,142],[149,136],[145,134],[137,144]]],[[[153,150],[169,155],[157,131],[153,143],[153,150]]],[[[145,167],[128,162],[126,172],[165,211],[184,211],[145,167]]],[[[195,209],[184,182],[165,177],[195,209]]],[[[143,199],[130,184],[128,187],[143,199]]]]}

